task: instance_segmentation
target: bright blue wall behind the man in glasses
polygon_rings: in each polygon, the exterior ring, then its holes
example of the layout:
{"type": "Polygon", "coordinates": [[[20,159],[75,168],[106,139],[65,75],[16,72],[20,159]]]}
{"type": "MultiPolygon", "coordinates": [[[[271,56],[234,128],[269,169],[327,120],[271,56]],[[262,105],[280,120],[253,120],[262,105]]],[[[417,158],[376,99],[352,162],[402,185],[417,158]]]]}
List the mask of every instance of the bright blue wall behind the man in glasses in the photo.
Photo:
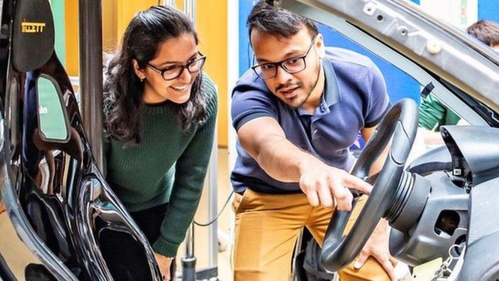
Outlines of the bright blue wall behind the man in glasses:
{"type": "MultiPolygon", "coordinates": [[[[253,56],[248,39],[246,19],[251,12],[254,2],[248,0],[239,1],[239,75],[242,75],[250,68],[253,56]]],[[[419,0],[413,0],[413,2],[419,4],[419,0]]],[[[388,62],[378,58],[331,28],[319,25],[319,30],[324,35],[326,46],[346,48],[369,56],[379,67],[387,81],[388,93],[390,94],[392,103],[403,97],[410,97],[419,103],[419,84],[409,75],[406,75],[401,70],[393,67],[388,62]]]]}

